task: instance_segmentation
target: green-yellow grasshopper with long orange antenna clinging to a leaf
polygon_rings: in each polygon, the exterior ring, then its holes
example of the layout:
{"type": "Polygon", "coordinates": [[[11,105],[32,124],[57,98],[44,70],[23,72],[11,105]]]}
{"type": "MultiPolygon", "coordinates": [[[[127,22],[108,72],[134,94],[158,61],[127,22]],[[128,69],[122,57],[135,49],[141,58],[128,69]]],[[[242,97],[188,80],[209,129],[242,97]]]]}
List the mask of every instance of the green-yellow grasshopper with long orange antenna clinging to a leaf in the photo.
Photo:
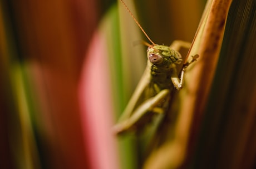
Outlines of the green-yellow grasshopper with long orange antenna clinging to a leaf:
{"type": "Polygon", "coordinates": [[[169,108],[173,86],[178,90],[183,88],[185,69],[199,57],[199,55],[192,56],[193,59],[183,65],[179,78],[176,65],[182,62],[182,58],[178,50],[181,47],[189,48],[190,43],[175,40],[170,47],[155,44],[136,21],[124,1],[120,1],[152,45],[147,44],[146,69],[119,122],[114,126],[116,134],[141,129],[141,126],[152,121],[155,115],[165,114],[169,108]]]}

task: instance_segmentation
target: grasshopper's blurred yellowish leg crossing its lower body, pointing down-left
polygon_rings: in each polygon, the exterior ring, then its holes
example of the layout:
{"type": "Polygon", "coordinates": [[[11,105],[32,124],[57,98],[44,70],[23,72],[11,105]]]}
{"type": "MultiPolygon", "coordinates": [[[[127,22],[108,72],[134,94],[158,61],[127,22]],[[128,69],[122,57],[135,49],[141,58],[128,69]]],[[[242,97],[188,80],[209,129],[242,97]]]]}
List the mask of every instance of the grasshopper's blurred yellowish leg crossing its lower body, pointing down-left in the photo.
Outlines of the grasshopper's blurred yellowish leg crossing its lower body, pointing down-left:
{"type": "Polygon", "coordinates": [[[157,105],[165,100],[169,94],[170,90],[164,89],[154,97],[145,100],[144,103],[142,103],[139,107],[137,107],[137,109],[134,110],[128,119],[114,126],[114,132],[116,134],[122,134],[123,132],[131,129],[133,126],[136,126],[136,124],[144,119],[143,117],[146,116],[147,112],[162,114],[164,109],[162,107],[158,107],[157,105]]]}

